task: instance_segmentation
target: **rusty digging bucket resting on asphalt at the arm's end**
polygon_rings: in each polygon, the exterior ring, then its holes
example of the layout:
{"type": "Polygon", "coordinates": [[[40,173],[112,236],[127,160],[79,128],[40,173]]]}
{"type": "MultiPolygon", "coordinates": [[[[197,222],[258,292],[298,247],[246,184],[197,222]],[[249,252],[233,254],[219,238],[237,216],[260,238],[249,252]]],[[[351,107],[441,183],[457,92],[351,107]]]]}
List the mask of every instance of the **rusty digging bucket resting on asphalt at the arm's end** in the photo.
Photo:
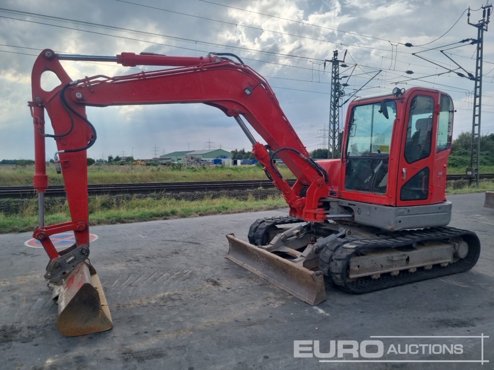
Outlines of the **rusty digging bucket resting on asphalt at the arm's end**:
{"type": "Polygon", "coordinates": [[[113,322],[94,267],[83,261],[71,272],[58,294],[57,329],[66,336],[104,332],[113,322]]]}

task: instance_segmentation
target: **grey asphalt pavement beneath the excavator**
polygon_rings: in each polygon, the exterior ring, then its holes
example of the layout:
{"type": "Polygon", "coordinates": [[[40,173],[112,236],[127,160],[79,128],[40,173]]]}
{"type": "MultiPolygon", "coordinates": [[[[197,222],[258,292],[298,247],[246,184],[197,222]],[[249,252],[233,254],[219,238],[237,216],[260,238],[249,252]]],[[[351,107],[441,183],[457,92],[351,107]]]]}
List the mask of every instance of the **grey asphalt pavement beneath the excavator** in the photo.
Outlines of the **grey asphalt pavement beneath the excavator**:
{"type": "Polygon", "coordinates": [[[64,337],[48,258],[0,235],[0,369],[493,369],[494,209],[453,195],[451,226],[476,232],[466,273],[310,306],[228,259],[225,235],[286,209],[91,227],[114,328],[64,337]],[[325,362],[329,361],[329,362],[325,362]]]}

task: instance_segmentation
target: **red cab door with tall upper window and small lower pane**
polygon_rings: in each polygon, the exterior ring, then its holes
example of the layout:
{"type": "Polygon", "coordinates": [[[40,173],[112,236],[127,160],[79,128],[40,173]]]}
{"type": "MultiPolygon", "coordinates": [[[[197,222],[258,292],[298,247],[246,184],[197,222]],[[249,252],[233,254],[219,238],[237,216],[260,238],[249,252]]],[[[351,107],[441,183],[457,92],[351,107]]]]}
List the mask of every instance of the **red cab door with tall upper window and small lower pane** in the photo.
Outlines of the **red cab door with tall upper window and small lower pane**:
{"type": "MultiPolygon", "coordinates": [[[[437,172],[435,139],[439,96],[438,92],[418,90],[408,100],[410,106],[404,122],[397,179],[397,206],[437,203],[432,195],[437,172]]],[[[444,172],[446,178],[446,169],[444,172]]]]}

